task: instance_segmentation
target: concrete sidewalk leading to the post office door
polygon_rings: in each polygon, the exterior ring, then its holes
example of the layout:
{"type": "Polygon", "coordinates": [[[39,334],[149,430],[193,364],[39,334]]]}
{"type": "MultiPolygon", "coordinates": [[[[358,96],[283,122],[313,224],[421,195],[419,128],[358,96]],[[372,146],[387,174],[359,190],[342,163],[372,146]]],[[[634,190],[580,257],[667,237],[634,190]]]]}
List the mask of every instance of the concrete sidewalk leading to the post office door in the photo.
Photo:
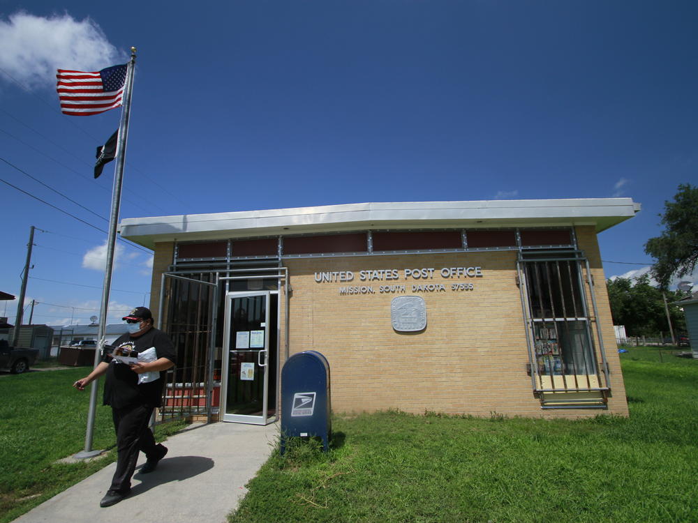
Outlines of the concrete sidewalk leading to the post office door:
{"type": "Polygon", "coordinates": [[[15,522],[224,523],[278,437],[279,423],[192,425],[164,442],[168,455],[156,471],[142,476],[138,473],[145,462],[141,453],[131,494],[124,501],[99,506],[116,469],[112,463],[15,522]]]}

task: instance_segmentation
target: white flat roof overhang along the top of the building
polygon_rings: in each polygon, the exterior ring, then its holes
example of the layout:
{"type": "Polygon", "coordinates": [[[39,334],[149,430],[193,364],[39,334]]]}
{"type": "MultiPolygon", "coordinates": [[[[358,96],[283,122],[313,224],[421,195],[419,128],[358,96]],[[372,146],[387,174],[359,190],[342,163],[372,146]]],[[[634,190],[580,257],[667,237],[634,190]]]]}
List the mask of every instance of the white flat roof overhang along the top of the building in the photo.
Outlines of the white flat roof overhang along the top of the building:
{"type": "Polygon", "coordinates": [[[265,211],[124,218],[122,237],[149,249],[163,241],[207,241],[366,229],[450,229],[593,225],[596,232],[632,218],[632,198],[387,202],[265,211]]]}

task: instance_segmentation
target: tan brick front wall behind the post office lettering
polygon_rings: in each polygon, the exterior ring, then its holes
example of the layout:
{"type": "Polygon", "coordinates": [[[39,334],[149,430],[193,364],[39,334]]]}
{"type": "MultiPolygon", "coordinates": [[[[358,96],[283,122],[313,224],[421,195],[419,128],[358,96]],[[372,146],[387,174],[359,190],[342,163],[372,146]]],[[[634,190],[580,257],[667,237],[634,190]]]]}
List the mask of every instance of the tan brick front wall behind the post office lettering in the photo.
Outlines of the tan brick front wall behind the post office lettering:
{"type": "MultiPolygon", "coordinates": [[[[589,254],[597,256],[591,233],[589,238],[588,232],[578,232],[589,254]]],[[[516,256],[512,251],[492,251],[285,260],[293,289],[290,354],[313,349],[327,357],[335,411],[392,408],[475,416],[493,412],[550,417],[599,414],[593,409],[542,410],[533,396],[526,373],[528,351],[515,279],[516,256]],[[452,266],[480,266],[482,277],[442,278],[440,268],[452,266]],[[405,280],[404,268],[423,267],[435,269],[433,278],[405,280]],[[359,271],[393,268],[399,270],[399,280],[359,281],[359,271]],[[352,271],[355,279],[315,282],[315,272],[326,271],[352,271]],[[475,289],[452,291],[454,282],[473,283],[475,289]],[[446,290],[413,292],[413,283],[443,283],[446,290]],[[380,285],[398,284],[406,285],[404,294],[379,292],[380,285]],[[346,285],[368,285],[375,294],[341,296],[339,289],[346,285]],[[391,324],[392,298],[413,295],[426,302],[426,329],[398,333],[391,324]]],[[[595,278],[603,282],[602,273],[595,278]]],[[[601,314],[607,314],[605,287],[603,292],[597,289],[597,301],[603,304],[601,314]]],[[[604,324],[604,340],[614,342],[613,337],[606,338],[609,329],[612,334],[610,322],[604,324]]],[[[608,344],[607,351],[614,356],[609,358],[611,376],[618,387],[611,411],[627,414],[618,355],[608,344]]]]}

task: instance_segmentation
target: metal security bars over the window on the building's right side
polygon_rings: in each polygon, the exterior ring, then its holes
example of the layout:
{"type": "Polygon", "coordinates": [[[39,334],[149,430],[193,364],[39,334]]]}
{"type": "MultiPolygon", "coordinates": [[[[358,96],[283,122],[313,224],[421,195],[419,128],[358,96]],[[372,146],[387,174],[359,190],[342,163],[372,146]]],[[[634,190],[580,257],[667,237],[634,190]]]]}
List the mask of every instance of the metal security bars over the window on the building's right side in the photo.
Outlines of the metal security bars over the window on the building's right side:
{"type": "MultiPolygon", "coordinates": [[[[533,391],[544,408],[604,407],[609,391],[603,345],[593,339],[595,314],[584,292],[579,251],[522,252],[517,261],[533,391]]],[[[598,330],[598,328],[597,328],[598,330]]]]}

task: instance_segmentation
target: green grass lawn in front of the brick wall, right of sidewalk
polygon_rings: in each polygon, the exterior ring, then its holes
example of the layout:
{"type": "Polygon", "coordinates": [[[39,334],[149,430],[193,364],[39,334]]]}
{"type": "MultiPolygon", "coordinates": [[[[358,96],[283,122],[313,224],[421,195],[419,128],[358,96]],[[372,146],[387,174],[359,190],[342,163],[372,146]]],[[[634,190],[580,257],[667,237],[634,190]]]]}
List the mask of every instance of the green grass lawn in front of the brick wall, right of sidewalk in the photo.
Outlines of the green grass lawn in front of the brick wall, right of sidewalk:
{"type": "Polygon", "coordinates": [[[242,522],[698,521],[698,361],[621,354],[630,418],[336,416],[248,487],[242,522]]]}

